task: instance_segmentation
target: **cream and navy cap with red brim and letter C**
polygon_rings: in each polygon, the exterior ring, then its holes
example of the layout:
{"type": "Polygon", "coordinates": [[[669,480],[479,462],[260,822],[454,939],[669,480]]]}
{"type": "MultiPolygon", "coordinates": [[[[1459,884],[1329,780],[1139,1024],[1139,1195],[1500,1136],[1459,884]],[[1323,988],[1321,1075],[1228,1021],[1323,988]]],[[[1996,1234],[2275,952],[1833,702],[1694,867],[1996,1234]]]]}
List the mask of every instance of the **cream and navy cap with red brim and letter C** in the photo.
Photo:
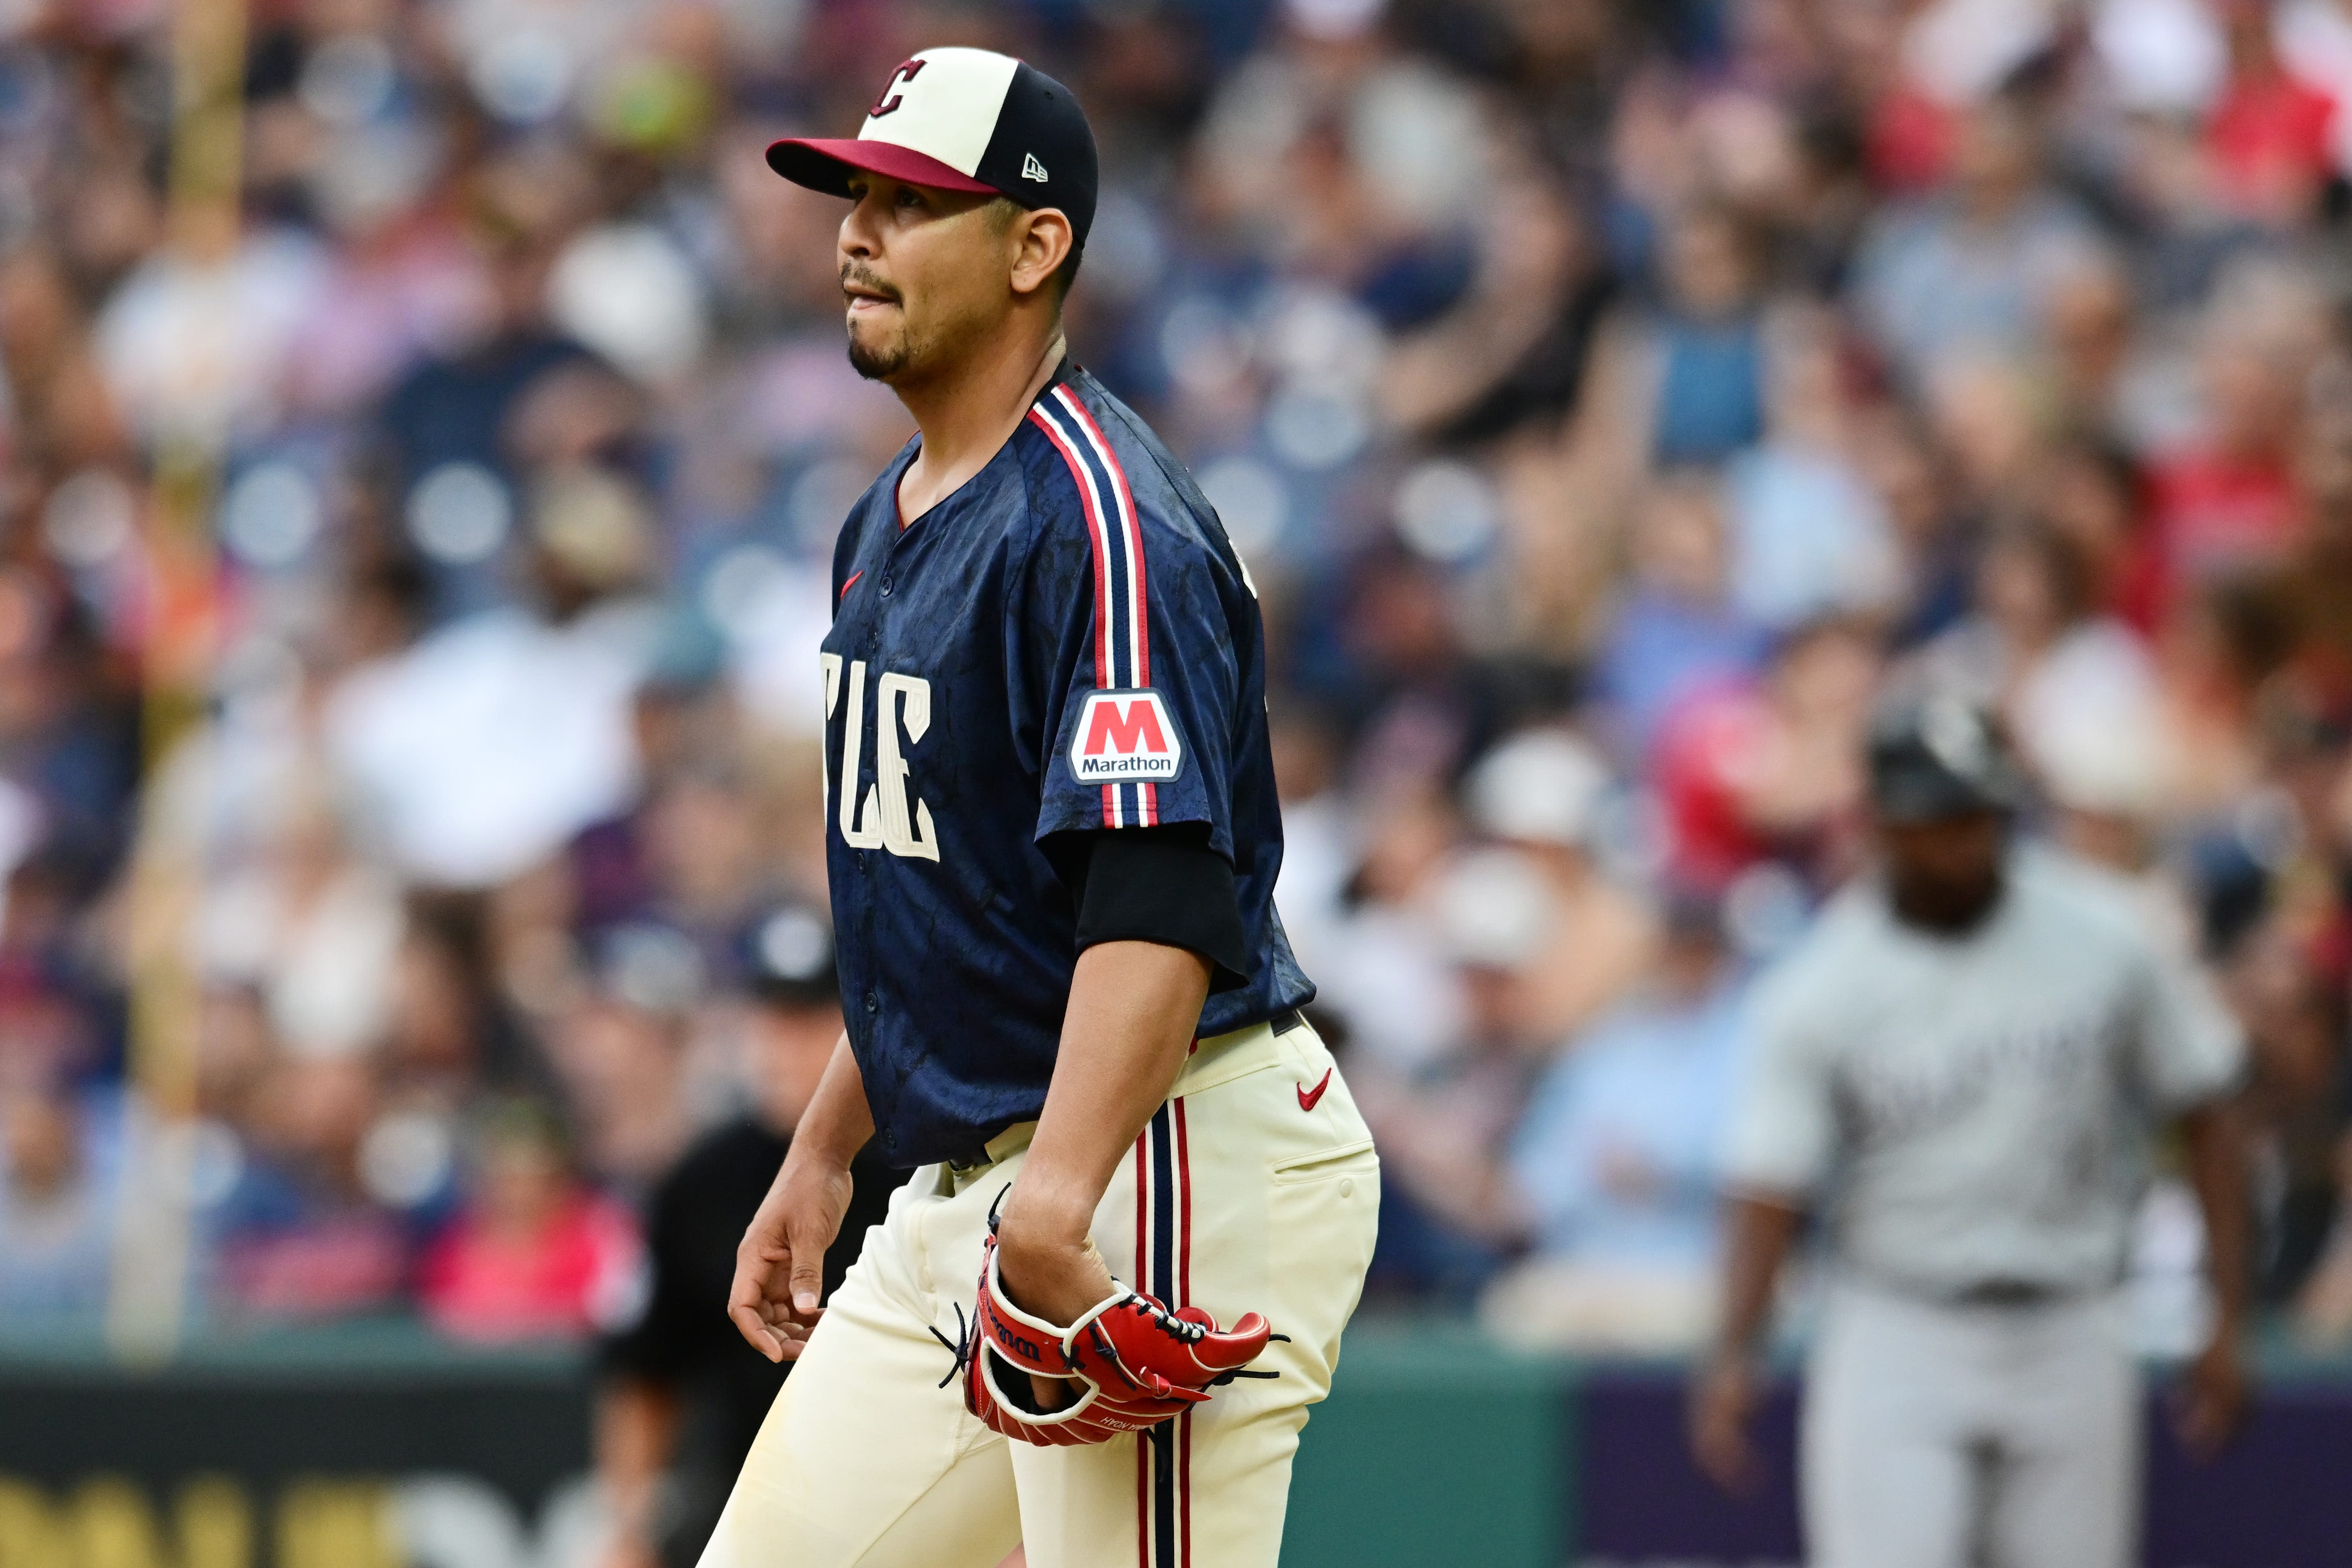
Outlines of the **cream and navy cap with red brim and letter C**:
{"type": "Polygon", "coordinates": [[[924,49],[891,71],[854,141],[786,136],[767,150],[767,167],[828,195],[849,195],[849,174],[866,169],[1058,207],[1080,244],[1094,226],[1094,132],[1077,96],[993,49],[924,49]]]}

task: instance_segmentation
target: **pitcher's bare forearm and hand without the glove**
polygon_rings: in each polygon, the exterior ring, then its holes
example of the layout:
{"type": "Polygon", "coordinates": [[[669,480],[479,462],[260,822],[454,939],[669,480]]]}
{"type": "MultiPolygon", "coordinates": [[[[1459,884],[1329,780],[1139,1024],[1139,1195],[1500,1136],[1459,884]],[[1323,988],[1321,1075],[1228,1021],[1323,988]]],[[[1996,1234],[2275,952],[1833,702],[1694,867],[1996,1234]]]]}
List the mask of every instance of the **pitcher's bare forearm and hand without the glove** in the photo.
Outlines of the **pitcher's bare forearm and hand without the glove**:
{"type": "Polygon", "coordinates": [[[833,1041],[816,1098],[793,1131],[793,1147],[760,1199],[760,1213],[736,1246],[727,1316],[769,1361],[797,1361],[816,1326],[826,1248],[849,1213],[849,1161],[873,1135],[858,1058],[849,1051],[849,1034],[842,1034],[833,1041]]]}

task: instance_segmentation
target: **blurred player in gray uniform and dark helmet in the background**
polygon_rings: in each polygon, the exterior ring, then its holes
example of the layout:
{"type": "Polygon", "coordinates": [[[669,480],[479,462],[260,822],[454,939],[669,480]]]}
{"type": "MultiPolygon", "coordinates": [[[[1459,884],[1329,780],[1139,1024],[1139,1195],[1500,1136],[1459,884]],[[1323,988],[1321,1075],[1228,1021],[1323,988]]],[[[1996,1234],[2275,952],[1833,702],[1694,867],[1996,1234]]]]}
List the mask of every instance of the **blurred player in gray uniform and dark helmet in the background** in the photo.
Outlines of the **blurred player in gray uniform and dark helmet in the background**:
{"type": "Polygon", "coordinates": [[[1813,1568],[2124,1568],[2140,1399],[2117,1281],[2166,1121],[2218,1305],[2183,1436],[2213,1448],[2244,1408],[2244,1173],[2225,1110],[2244,1046],[2119,886],[2013,839],[2018,783],[1980,712],[1882,708],[1870,788],[1882,870],[1757,1001],[1693,1453],[1724,1486],[1752,1479],[1755,1354],[1818,1206],[1835,1279],[1804,1382],[1813,1568]]]}

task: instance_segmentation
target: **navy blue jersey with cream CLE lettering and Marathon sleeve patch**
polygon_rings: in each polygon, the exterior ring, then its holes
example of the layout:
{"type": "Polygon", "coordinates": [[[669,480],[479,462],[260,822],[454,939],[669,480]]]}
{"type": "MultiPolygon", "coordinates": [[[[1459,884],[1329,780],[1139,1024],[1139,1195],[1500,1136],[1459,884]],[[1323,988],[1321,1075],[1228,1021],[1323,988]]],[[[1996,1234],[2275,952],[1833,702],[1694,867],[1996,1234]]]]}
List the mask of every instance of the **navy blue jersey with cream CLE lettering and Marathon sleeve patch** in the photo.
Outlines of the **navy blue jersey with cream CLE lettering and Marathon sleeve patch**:
{"type": "Polygon", "coordinates": [[[1265,630],[1200,487],[1068,367],[901,527],[915,451],[842,524],[823,644],[842,1011],[898,1166],[1044,1110],[1077,966],[1056,835],[1200,823],[1232,863],[1249,973],[1202,1037],[1315,994],[1275,917],[1265,630]]]}

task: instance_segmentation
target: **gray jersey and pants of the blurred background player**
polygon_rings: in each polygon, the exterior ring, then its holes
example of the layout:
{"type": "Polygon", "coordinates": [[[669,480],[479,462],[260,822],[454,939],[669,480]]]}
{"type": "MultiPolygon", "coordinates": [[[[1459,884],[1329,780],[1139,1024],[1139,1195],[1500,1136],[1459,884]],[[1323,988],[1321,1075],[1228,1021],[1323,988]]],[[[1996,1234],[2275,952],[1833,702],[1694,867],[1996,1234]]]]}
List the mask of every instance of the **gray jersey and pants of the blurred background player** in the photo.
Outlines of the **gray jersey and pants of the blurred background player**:
{"type": "Polygon", "coordinates": [[[2138,1378],[2117,1291],[2152,1133],[2244,1041],[2122,889],[2011,851],[1983,926],[1849,889],[1764,983],[1726,1185],[1818,1204],[1835,1286],[1806,1371],[1813,1568],[2122,1568],[2138,1378]]]}

